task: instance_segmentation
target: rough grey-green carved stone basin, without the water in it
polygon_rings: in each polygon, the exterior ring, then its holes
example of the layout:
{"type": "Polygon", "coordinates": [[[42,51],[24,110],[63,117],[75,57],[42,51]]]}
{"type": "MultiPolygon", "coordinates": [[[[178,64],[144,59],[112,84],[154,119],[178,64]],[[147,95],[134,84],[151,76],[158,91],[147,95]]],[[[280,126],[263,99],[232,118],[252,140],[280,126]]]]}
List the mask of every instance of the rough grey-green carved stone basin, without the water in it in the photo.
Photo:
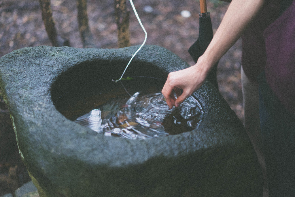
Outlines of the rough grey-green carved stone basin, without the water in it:
{"type": "MultiPolygon", "coordinates": [[[[199,127],[178,135],[108,137],[56,110],[52,95],[64,84],[118,79],[138,47],[37,46],[0,59],[1,92],[40,196],[262,196],[261,170],[245,129],[208,81],[194,93],[204,112],[199,127]]],[[[145,45],[125,76],[166,79],[188,66],[165,48],[145,45]]]]}

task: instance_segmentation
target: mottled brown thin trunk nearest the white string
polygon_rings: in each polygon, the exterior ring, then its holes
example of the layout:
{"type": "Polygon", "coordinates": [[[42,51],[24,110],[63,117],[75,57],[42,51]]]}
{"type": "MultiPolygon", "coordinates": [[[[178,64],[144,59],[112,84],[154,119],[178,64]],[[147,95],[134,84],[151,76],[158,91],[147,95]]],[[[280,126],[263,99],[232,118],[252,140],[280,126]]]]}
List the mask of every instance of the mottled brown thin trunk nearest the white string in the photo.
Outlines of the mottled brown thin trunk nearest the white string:
{"type": "Polygon", "coordinates": [[[130,46],[129,32],[129,11],[126,7],[126,0],[114,0],[115,17],[118,27],[119,48],[130,46]]]}

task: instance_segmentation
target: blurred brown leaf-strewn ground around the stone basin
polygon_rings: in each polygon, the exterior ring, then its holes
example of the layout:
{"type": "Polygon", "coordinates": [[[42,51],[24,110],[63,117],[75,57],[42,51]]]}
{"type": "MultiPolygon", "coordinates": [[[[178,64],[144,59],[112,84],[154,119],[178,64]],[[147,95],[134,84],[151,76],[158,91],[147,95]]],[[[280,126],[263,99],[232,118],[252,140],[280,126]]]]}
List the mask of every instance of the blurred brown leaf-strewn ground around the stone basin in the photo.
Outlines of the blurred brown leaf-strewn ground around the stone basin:
{"type": "MultiPolygon", "coordinates": [[[[98,48],[117,48],[117,25],[114,17],[114,1],[88,0],[89,26],[98,48]]],[[[176,53],[190,65],[194,61],[187,52],[198,38],[199,1],[198,0],[134,0],[148,39],[146,44],[160,45],[176,53]],[[151,6],[152,12],[145,12],[145,6],[151,6]],[[181,16],[188,10],[191,16],[181,16]]],[[[141,44],[144,40],[135,14],[130,9],[131,45],[141,44]]],[[[58,33],[70,40],[71,46],[82,48],[78,32],[75,1],[51,0],[53,17],[58,33]]],[[[228,3],[219,0],[207,0],[208,11],[214,31],[220,24],[228,3]]],[[[42,22],[39,1],[37,0],[1,0],[0,1],[0,57],[23,47],[51,45],[42,22]]],[[[240,83],[241,40],[219,61],[217,79],[219,91],[230,107],[242,121],[242,92],[240,83]]],[[[12,193],[28,177],[22,164],[9,112],[0,97],[0,196],[12,193]]]]}

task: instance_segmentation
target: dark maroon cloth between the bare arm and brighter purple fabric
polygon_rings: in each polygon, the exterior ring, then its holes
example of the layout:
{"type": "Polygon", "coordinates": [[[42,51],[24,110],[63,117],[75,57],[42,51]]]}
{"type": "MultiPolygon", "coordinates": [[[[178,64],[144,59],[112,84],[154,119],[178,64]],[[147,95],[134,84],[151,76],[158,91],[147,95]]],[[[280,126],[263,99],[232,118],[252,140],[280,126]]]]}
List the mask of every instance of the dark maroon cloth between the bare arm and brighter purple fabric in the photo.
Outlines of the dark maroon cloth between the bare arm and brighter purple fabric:
{"type": "Polygon", "coordinates": [[[242,35],[242,67],[246,76],[256,80],[266,64],[263,31],[280,14],[280,1],[268,0],[242,35]]]}

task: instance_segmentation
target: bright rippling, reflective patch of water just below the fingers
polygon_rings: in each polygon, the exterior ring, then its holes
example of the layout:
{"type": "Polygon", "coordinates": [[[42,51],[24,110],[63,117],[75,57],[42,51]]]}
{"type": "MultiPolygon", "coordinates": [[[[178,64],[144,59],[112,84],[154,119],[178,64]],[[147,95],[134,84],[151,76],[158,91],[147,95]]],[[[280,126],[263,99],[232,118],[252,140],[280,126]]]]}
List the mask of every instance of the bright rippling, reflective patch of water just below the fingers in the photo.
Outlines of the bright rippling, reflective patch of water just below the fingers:
{"type": "Polygon", "coordinates": [[[200,116],[201,109],[192,96],[178,108],[169,109],[162,93],[136,92],[128,100],[105,103],[75,122],[105,136],[146,139],[191,131],[200,116]]]}

